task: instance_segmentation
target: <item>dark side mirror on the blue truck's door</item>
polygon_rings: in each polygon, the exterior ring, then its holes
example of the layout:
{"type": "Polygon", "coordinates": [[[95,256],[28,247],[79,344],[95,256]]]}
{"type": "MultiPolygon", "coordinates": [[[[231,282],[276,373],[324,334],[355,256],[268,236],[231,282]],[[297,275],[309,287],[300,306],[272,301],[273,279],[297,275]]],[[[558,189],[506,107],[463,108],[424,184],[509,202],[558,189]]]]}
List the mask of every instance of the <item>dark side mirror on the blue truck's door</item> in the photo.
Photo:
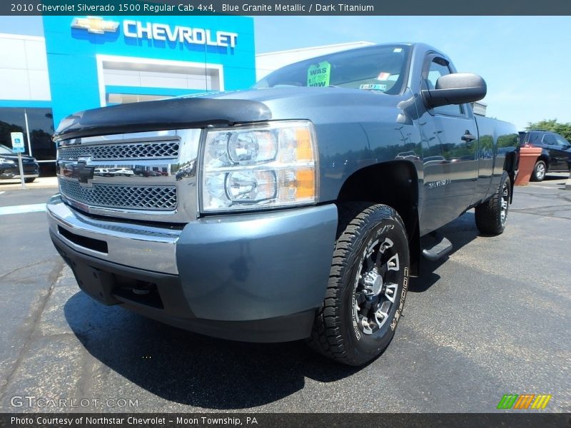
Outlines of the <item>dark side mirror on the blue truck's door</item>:
{"type": "Polygon", "coordinates": [[[430,107],[464,104],[479,101],[486,96],[486,83],[473,73],[452,73],[440,76],[434,89],[422,91],[430,107]]]}

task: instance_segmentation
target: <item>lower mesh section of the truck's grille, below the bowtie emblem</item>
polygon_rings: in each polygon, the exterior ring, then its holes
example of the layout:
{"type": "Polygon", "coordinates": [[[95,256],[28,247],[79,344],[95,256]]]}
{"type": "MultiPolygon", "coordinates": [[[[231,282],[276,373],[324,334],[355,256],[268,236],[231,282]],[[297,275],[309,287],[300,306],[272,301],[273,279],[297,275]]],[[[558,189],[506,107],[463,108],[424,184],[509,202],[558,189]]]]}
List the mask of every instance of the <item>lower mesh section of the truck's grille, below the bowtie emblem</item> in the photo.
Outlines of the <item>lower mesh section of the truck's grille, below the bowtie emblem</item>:
{"type": "Polygon", "coordinates": [[[59,190],[67,198],[95,207],[165,211],[176,209],[176,186],[94,184],[82,187],[77,181],[60,178],[59,190]]]}

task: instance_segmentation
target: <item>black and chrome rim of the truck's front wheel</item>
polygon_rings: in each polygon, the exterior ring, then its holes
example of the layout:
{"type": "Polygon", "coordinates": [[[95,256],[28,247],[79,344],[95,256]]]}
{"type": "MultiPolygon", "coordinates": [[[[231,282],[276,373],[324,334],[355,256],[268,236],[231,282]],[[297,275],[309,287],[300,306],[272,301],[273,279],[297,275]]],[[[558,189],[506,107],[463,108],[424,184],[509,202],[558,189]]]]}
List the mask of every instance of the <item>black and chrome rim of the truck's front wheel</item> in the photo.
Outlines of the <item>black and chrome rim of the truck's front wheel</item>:
{"type": "Polygon", "coordinates": [[[403,273],[397,248],[389,238],[376,238],[360,259],[353,287],[353,325],[365,335],[389,319],[403,273]]]}

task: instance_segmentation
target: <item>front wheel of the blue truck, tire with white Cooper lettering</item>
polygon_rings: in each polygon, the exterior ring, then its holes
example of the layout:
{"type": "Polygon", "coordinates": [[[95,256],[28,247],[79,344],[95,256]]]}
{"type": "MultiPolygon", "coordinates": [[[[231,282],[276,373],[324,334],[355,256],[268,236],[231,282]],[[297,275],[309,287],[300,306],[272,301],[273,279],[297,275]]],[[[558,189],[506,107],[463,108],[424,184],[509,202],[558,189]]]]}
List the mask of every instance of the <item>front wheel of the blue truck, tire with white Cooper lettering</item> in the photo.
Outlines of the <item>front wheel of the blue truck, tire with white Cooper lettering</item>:
{"type": "MultiPolygon", "coordinates": [[[[410,266],[408,238],[403,220],[388,205],[346,203],[338,205],[338,213],[338,238],[327,292],[323,305],[315,315],[312,334],[307,341],[310,347],[326,357],[346,365],[360,366],[373,360],[388,347],[402,316],[410,266]],[[389,243],[390,247],[387,246],[389,243]],[[385,250],[373,253],[375,248],[385,250]],[[393,261],[387,261],[387,258],[393,261]],[[375,325],[374,322],[368,324],[363,320],[365,308],[357,309],[358,297],[355,297],[360,287],[363,287],[363,268],[370,269],[371,265],[374,266],[373,270],[379,266],[376,272],[385,272],[383,281],[380,281],[385,295],[382,291],[378,292],[378,301],[375,303],[370,303],[367,299],[363,304],[371,305],[367,313],[382,310],[381,300],[388,301],[388,287],[391,287],[393,298],[393,303],[389,303],[389,309],[385,310],[386,320],[383,317],[385,322],[380,327],[378,322],[375,325]],[[388,274],[390,278],[386,277],[388,274]],[[363,324],[369,326],[368,334],[364,333],[363,324]]],[[[367,277],[369,272],[370,270],[364,276],[367,277]]],[[[363,298],[359,297],[360,300],[363,298]]]]}

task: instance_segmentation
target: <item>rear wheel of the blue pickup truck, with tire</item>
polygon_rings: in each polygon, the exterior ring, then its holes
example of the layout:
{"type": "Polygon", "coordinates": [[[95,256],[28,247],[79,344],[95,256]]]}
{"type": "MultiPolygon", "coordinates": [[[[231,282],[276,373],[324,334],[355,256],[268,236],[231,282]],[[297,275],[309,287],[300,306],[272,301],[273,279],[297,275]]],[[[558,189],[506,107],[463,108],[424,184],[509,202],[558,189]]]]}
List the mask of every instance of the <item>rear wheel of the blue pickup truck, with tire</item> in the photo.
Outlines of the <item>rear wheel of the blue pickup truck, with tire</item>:
{"type": "Polygon", "coordinates": [[[500,185],[492,198],[475,208],[476,227],[487,235],[500,235],[505,230],[507,211],[510,207],[512,186],[510,176],[504,171],[500,185]]]}

